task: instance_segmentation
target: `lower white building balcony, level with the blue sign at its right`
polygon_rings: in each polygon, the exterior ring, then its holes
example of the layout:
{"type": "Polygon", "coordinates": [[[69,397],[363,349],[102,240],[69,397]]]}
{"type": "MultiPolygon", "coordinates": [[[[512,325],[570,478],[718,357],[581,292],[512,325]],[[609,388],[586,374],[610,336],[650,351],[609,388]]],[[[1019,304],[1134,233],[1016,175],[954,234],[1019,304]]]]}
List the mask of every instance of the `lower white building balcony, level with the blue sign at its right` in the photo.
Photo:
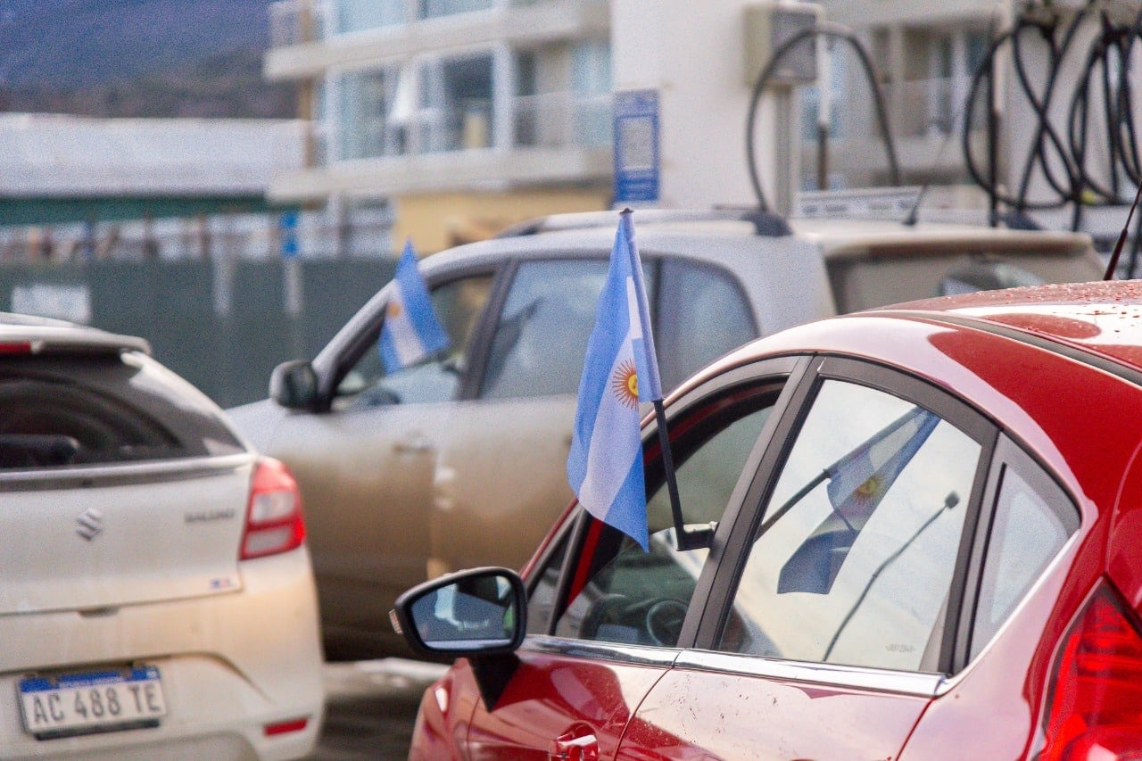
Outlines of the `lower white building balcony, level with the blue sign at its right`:
{"type": "Polygon", "coordinates": [[[572,93],[520,96],[497,129],[491,102],[420,109],[397,122],[352,129],[311,125],[319,166],[271,183],[275,200],[333,193],[509,190],[610,181],[611,98],[572,93]]]}

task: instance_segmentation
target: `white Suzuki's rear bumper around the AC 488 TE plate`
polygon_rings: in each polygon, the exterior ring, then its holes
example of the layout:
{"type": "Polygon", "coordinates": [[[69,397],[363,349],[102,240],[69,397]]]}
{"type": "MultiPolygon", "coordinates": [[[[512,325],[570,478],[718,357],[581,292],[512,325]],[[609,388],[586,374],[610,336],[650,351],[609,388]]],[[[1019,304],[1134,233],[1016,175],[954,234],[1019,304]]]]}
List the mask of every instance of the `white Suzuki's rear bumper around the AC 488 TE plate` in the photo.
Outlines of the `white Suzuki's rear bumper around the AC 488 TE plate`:
{"type": "Polygon", "coordinates": [[[290,759],[316,743],[324,694],[316,594],[303,547],[241,563],[242,590],[81,616],[0,616],[0,758],[290,759]],[[156,728],[38,740],[17,683],[29,673],[150,664],[167,716],[156,728]],[[265,727],[306,720],[297,731],[265,727]]]}

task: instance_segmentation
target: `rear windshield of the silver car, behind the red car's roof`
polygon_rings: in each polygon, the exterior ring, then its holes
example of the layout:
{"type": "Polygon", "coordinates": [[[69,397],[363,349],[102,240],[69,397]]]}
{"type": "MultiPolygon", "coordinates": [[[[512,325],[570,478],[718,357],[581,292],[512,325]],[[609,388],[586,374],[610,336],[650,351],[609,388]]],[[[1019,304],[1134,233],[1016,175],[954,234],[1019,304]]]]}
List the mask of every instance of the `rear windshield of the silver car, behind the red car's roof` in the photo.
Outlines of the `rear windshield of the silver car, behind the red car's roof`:
{"type": "Polygon", "coordinates": [[[828,270],[839,312],[973,290],[1102,279],[1102,266],[1089,251],[900,251],[833,258],[828,270]]]}

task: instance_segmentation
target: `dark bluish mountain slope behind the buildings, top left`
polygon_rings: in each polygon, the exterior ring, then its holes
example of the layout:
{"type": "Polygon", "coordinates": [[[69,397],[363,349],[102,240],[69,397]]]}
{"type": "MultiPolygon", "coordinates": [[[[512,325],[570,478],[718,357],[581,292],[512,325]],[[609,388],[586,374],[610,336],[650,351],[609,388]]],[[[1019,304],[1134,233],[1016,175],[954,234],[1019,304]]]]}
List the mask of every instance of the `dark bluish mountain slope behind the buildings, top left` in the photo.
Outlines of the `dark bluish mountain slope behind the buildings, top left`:
{"type": "Polygon", "coordinates": [[[97,117],[273,117],[262,78],[270,0],[0,0],[0,110],[97,117]]]}

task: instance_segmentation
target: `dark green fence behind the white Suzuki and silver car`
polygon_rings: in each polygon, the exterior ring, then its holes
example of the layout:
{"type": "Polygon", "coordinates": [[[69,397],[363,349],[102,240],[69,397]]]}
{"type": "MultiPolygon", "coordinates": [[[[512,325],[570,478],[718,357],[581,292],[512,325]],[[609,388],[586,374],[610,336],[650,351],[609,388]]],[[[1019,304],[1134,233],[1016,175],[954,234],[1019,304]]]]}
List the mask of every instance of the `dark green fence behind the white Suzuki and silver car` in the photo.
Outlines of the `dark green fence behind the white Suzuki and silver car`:
{"type": "Polygon", "coordinates": [[[0,267],[0,310],[143,336],[223,407],[266,395],[392,277],[395,259],[89,262],[0,267]]]}

